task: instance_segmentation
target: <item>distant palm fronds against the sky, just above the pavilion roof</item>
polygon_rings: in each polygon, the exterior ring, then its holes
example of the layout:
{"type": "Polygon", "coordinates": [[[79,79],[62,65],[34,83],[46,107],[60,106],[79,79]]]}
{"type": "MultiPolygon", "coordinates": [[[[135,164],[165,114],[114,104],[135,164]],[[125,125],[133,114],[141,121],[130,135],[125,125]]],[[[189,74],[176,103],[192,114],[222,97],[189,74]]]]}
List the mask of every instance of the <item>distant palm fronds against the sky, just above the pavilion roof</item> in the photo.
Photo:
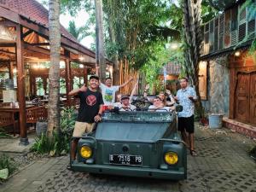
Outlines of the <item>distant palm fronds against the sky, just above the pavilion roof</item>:
{"type": "Polygon", "coordinates": [[[89,35],[89,33],[87,32],[88,29],[88,26],[77,27],[73,20],[69,21],[67,28],[68,32],[70,32],[74,38],[78,39],[79,42],[81,42],[83,38],[89,35]]]}

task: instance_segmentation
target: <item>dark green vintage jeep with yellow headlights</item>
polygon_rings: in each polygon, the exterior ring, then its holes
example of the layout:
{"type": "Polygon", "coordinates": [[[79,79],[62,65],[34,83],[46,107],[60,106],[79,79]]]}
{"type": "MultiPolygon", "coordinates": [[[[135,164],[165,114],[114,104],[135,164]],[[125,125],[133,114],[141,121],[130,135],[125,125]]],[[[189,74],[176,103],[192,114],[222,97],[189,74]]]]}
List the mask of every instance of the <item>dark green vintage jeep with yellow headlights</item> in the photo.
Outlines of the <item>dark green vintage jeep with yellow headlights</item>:
{"type": "Polygon", "coordinates": [[[181,180],[187,177],[186,147],[176,113],[104,113],[90,134],[80,137],[74,172],[181,180]]]}

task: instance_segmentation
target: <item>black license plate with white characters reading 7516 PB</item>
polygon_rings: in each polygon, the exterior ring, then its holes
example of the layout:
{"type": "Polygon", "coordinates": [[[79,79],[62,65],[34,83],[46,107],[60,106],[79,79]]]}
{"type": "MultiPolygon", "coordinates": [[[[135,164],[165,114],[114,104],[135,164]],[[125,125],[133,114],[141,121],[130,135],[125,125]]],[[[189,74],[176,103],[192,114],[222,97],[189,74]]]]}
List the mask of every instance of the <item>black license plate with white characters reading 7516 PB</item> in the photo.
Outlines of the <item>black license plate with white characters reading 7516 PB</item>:
{"type": "Polygon", "coordinates": [[[109,154],[109,163],[126,166],[143,165],[143,157],[141,155],[130,154],[109,154]]]}

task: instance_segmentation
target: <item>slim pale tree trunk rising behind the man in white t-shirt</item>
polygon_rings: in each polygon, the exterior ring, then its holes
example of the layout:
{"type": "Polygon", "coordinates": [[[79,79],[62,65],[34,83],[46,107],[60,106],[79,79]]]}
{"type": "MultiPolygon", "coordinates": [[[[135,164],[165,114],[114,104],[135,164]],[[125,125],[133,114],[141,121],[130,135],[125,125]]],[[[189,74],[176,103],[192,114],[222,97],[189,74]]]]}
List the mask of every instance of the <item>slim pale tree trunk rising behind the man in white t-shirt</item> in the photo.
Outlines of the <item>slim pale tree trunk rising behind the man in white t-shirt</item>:
{"type": "Polygon", "coordinates": [[[102,82],[106,79],[106,61],[103,35],[102,0],[95,0],[96,9],[96,66],[100,67],[99,76],[102,82]]]}

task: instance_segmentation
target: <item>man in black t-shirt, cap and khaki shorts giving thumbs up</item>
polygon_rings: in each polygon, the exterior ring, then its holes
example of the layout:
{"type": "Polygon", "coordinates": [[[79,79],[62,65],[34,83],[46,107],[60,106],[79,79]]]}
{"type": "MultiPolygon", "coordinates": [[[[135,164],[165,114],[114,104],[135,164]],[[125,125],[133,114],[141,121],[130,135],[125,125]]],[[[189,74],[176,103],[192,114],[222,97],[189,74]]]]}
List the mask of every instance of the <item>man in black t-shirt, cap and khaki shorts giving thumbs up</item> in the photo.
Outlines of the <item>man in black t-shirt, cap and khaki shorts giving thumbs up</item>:
{"type": "MultiPolygon", "coordinates": [[[[101,120],[104,103],[102,93],[98,88],[99,78],[97,76],[90,76],[90,87],[88,89],[83,85],[80,89],[72,90],[68,93],[69,96],[79,96],[80,98],[79,117],[75,123],[73,137],[81,137],[84,132],[91,132],[94,127],[94,123],[101,120]]],[[[72,141],[72,160],[75,160],[78,142],[78,138],[75,138],[72,141]]]]}

